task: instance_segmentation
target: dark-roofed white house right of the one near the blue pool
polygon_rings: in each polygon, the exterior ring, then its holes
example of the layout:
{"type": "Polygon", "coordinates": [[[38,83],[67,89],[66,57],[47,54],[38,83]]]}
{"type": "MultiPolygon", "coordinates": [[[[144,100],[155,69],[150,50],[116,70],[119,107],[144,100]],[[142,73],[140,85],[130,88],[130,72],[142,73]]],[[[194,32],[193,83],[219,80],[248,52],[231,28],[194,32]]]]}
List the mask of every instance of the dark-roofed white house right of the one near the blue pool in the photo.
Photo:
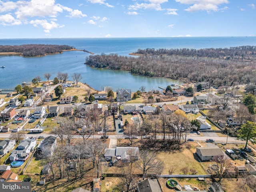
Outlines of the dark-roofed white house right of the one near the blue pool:
{"type": "Polygon", "coordinates": [[[57,138],[54,136],[48,136],[44,138],[44,140],[42,140],[40,144],[38,144],[37,150],[44,151],[44,153],[46,153],[48,156],[52,156],[52,153],[56,148],[56,145],[57,138]]]}

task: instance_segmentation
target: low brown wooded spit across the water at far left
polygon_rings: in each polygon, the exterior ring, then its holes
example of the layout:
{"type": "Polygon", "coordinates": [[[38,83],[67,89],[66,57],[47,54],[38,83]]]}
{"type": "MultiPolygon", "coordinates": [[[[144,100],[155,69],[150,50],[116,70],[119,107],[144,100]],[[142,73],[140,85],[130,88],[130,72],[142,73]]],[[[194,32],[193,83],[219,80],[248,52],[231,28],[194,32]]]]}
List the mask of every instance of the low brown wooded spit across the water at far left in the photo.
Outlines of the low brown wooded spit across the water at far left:
{"type": "Polygon", "coordinates": [[[22,56],[44,56],[45,54],[61,53],[63,50],[74,49],[68,45],[44,45],[44,44],[27,44],[27,45],[0,45],[0,52],[16,52],[22,56]]]}

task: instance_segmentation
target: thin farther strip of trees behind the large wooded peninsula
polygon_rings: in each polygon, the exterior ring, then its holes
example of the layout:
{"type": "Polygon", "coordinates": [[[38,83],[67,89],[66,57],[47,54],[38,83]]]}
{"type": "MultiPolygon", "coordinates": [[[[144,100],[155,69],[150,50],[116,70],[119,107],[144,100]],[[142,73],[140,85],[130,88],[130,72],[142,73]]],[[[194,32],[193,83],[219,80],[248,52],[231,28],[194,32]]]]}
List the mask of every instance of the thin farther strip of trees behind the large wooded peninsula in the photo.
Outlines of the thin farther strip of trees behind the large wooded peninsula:
{"type": "Polygon", "coordinates": [[[208,57],[222,59],[256,59],[256,46],[239,46],[230,48],[205,48],[205,49],[154,49],[146,48],[138,49],[133,54],[143,55],[176,55],[176,56],[192,56],[192,57],[208,57]]]}

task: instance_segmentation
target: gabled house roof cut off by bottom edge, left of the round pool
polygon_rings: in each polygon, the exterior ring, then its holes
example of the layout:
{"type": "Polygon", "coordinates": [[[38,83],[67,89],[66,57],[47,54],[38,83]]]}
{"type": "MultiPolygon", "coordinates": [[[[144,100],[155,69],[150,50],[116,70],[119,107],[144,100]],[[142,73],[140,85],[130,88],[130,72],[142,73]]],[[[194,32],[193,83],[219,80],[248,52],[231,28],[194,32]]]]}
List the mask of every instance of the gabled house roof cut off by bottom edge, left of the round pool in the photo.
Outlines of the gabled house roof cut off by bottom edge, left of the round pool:
{"type": "Polygon", "coordinates": [[[157,179],[146,179],[137,185],[138,192],[162,192],[157,179]]]}

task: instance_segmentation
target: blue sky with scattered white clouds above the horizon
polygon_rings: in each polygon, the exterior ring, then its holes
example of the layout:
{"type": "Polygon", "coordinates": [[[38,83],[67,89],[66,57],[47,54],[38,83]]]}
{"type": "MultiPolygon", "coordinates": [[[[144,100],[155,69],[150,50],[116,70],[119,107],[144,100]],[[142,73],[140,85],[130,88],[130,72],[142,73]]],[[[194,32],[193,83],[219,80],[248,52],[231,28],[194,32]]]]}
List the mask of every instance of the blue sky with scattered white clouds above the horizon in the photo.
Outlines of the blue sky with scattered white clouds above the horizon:
{"type": "Polygon", "coordinates": [[[0,0],[1,38],[256,36],[256,0],[0,0]]]}

